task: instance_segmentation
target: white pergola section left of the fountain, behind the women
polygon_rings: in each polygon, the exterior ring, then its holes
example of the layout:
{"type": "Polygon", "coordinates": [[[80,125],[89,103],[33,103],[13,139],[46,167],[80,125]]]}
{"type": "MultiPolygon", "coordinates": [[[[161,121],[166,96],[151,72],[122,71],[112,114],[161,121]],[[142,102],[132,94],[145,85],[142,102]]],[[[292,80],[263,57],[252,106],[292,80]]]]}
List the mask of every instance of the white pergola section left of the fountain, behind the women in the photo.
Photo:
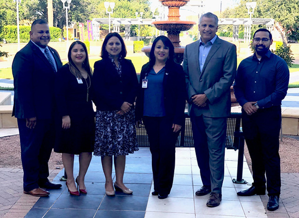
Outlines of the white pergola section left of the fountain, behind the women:
{"type": "MultiPolygon", "coordinates": [[[[120,26],[125,25],[125,38],[130,37],[131,25],[152,25],[156,19],[139,19],[139,18],[110,18],[113,25],[113,32],[120,32],[120,26]]],[[[93,39],[100,39],[100,25],[109,24],[109,18],[93,18],[93,39]]]]}

